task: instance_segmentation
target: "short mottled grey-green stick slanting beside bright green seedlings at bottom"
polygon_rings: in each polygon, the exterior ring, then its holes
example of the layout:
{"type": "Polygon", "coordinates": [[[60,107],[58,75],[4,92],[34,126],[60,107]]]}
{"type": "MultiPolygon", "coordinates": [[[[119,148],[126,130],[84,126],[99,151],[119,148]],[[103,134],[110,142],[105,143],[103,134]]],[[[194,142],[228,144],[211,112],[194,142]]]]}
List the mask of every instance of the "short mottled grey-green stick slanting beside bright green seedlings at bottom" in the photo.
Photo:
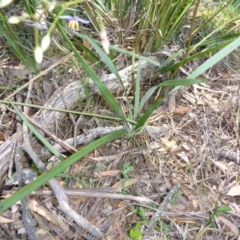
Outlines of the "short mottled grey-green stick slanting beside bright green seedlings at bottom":
{"type": "Polygon", "coordinates": [[[161,212],[164,211],[167,207],[167,204],[171,201],[171,199],[173,198],[174,194],[179,190],[179,188],[181,187],[180,184],[176,184],[173,189],[167,194],[167,196],[164,198],[163,202],[160,205],[160,208],[154,213],[154,215],[152,216],[151,222],[148,224],[147,229],[146,229],[146,233],[149,236],[153,235],[153,227],[154,224],[157,222],[157,220],[160,218],[161,216],[161,212]]]}

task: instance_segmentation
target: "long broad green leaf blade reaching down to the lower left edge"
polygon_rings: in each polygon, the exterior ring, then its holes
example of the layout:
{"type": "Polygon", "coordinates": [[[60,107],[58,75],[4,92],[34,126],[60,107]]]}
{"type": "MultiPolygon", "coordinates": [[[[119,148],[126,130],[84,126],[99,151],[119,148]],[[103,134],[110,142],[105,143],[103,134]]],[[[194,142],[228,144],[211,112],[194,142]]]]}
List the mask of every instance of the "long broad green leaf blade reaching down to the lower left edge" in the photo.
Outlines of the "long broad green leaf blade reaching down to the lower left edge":
{"type": "Polygon", "coordinates": [[[66,160],[62,161],[59,163],[56,167],[52,168],[46,173],[43,173],[40,175],[38,178],[36,178],[33,182],[28,184],[27,186],[23,187],[20,189],[17,193],[13,194],[9,198],[3,200],[0,202],[0,213],[4,212],[7,210],[9,207],[11,207],[14,203],[19,201],[20,199],[28,196],[32,191],[38,189],[41,187],[43,184],[47,183],[49,180],[63,172],[65,169],[69,168],[71,165],[79,161],[81,158],[86,156],[88,153],[93,151],[94,149],[109,143],[113,141],[116,138],[119,138],[123,136],[126,133],[124,129],[118,130],[116,132],[113,132],[107,136],[104,136],[92,143],[90,143],[88,146],[83,148],[82,150],[74,153],[71,155],[69,158],[66,160]]]}

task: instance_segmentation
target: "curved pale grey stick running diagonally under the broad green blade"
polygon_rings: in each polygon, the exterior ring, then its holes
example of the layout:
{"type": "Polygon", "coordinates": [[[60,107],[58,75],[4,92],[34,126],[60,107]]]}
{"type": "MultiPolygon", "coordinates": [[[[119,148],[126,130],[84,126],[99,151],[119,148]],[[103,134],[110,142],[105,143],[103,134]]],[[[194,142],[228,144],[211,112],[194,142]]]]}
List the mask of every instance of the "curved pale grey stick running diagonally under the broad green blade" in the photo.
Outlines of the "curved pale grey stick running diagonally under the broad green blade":
{"type": "MultiPolygon", "coordinates": [[[[25,143],[22,145],[22,149],[30,156],[30,158],[34,161],[36,166],[41,170],[41,172],[46,172],[47,169],[41,159],[37,156],[37,154],[33,151],[30,145],[26,145],[25,143]]],[[[83,218],[81,215],[76,213],[68,203],[68,198],[65,193],[64,188],[56,181],[56,179],[49,180],[49,185],[55,193],[55,196],[58,200],[60,209],[71,219],[73,219],[79,227],[87,230],[89,233],[93,234],[96,237],[103,237],[101,231],[83,218]]]]}

